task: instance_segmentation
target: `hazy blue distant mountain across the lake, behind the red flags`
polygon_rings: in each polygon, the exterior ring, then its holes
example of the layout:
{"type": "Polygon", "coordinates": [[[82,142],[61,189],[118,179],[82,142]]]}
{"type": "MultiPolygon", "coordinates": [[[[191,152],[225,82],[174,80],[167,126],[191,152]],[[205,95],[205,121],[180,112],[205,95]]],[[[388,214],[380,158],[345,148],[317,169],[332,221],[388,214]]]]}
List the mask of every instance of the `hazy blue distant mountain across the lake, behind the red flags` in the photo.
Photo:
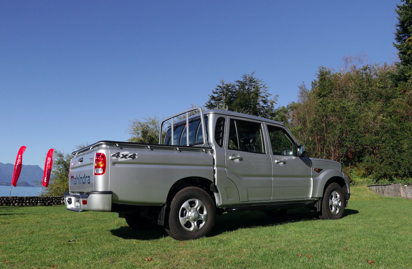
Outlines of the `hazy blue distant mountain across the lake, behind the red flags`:
{"type": "MultiPolygon", "coordinates": [[[[11,185],[14,165],[0,162],[0,185],[11,185]]],[[[42,186],[43,169],[38,165],[22,165],[17,186],[42,186]],[[35,182],[38,181],[38,182],[35,182]]]]}

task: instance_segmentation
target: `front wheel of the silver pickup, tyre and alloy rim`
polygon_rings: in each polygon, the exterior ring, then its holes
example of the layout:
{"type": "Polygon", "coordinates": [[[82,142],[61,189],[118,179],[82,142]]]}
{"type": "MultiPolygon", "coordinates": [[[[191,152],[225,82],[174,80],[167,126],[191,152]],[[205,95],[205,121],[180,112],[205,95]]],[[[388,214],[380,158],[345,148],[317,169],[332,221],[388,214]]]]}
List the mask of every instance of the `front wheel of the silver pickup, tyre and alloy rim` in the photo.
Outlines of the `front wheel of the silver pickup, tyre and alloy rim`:
{"type": "Polygon", "coordinates": [[[321,220],[337,220],[343,217],[345,211],[345,195],[338,183],[330,183],[322,197],[321,220]]]}

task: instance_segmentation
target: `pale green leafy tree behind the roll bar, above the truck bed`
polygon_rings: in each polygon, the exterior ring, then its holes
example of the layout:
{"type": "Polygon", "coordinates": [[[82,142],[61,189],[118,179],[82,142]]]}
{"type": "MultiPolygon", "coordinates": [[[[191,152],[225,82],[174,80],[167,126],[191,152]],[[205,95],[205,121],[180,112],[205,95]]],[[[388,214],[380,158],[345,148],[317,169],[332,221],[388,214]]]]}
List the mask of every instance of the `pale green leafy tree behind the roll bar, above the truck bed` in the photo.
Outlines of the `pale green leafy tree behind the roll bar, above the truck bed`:
{"type": "Polygon", "coordinates": [[[129,142],[135,143],[159,143],[160,119],[158,116],[131,120],[127,132],[131,134],[129,142]]]}

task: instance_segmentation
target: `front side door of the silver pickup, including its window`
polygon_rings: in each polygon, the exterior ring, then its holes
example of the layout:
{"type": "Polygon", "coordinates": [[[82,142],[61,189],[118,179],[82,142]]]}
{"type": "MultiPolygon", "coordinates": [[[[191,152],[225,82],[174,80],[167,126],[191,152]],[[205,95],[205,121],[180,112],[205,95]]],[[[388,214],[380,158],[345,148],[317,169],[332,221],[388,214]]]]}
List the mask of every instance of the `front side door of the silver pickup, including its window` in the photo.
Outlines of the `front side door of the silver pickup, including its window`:
{"type": "Polygon", "coordinates": [[[273,160],[272,200],[311,197],[309,158],[297,156],[297,144],[282,126],[267,125],[273,160]]]}

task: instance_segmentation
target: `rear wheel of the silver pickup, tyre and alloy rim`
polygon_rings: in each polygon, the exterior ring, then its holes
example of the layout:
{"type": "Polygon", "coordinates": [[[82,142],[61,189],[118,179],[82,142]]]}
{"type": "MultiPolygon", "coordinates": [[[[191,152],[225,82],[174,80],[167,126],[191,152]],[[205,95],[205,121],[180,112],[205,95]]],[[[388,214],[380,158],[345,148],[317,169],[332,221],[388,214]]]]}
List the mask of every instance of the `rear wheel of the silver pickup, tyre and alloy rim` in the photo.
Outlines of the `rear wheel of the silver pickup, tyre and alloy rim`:
{"type": "Polygon", "coordinates": [[[215,223],[216,208],[210,195],[197,187],[187,187],[173,197],[166,232],[176,240],[206,236],[215,223]]]}

